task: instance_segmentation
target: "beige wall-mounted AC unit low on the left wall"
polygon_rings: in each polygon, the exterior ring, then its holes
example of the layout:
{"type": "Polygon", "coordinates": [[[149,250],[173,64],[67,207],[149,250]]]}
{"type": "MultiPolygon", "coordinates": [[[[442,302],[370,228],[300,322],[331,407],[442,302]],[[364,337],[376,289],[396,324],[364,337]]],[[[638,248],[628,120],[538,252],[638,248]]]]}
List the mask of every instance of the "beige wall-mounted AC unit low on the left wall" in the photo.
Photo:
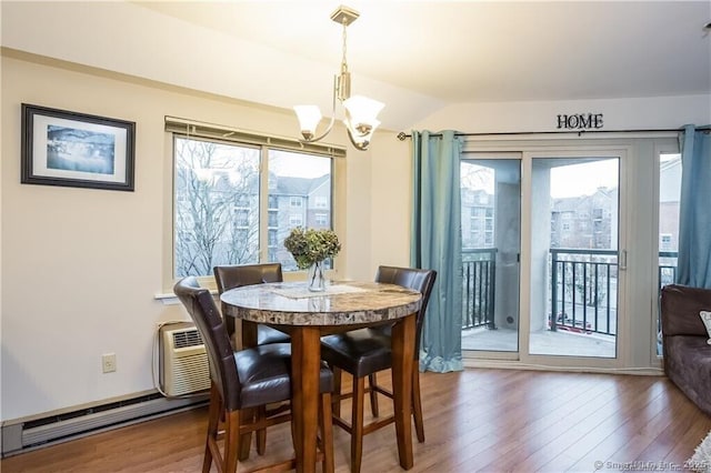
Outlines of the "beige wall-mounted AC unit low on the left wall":
{"type": "Polygon", "coordinates": [[[169,396],[210,389],[208,355],[192,323],[167,324],[159,331],[160,383],[169,396]]]}

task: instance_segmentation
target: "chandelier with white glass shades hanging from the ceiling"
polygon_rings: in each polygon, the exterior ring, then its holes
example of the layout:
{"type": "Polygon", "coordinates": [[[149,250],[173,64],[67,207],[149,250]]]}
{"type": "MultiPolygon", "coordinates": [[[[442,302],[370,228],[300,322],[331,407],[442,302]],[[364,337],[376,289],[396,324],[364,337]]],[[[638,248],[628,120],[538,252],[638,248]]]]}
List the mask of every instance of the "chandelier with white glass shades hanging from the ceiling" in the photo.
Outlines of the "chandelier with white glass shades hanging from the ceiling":
{"type": "Polygon", "coordinates": [[[361,151],[368,149],[370,139],[380,124],[378,113],[380,113],[384,103],[362,95],[351,97],[351,74],[348,71],[348,63],[346,62],[346,39],[348,26],[356,21],[359,16],[360,13],[358,13],[358,11],[344,6],[340,6],[331,13],[331,20],[343,27],[343,57],[341,59],[341,71],[338,76],[333,77],[333,109],[331,111],[331,122],[326,131],[317,137],[316,129],[322,118],[321,110],[319,110],[317,105],[296,105],[293,110],[297,112],[297,118],[299,119],[299,127],[301,128],[301,135],[303,137],[302,141],[319,141],[329,134],[336,121],[337,99],[346,109],[343,123],[348,130],[348,138],[357,149],[361,151]]]}

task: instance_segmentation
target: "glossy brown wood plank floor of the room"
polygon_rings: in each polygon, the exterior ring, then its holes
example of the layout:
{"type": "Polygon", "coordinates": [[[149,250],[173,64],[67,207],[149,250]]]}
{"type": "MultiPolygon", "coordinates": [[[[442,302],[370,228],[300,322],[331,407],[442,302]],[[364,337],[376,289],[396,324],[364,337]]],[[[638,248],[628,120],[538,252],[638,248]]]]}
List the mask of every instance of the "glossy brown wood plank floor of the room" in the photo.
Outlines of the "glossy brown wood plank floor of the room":
{"type": "MultiPolygon", "coordinates": [[[[711,417],[661,376],[469,369],[421,382],[427,441],[413,439],[412,472],[629,471],[642,462],[682,471],[711,431],[711,417]]],[[[392,410],[384,399],[380,406],[392,410]]],[[[198,409],[11,456],[0,470],[199,472],[206,426],[198,409]]],[[[243,466],[291,456],[290,442],[288,425],[271,429],[267,455],[252,452],[243,466]]],[[[402,471],[395,445],[393,425],[367,435],[363,473],[402,471]]],[[[348,472],[349,436],[338,427],[334,454],[337,472],[348,472]]]]}

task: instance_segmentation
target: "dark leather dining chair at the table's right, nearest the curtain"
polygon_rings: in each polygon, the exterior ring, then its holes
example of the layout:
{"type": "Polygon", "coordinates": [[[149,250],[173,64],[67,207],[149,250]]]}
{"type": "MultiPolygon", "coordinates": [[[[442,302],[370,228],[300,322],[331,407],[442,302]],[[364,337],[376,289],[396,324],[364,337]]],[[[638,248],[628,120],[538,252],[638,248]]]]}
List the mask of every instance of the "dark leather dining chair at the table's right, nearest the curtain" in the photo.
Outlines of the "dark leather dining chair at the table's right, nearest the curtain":
{"type": "MultiPolygon", "coordinates": [[[[412,414],[419,442],[424,442],[424,425],[422,422],[422,402],[420,400],[419,352],[424,313],[430,300],[430,293],[437,279],[437,271],[414,268],[384,266],[378,268],[375,282],[402,285],[422,293],[422,303],[417,313],[417,334],[414,345],[415,363],[412,365],[412,414]]],[[[379,419],[363,425],[363,404],[365,393],[370,394],[370,404],[374,417],[379,416],[378,394],[390,399],[392,392],[379,386],[375,373],[392,368],[392,325],[382,325],[353,330],[346,333],[323,336],[321,339],[321,359],[333,370],[333,423],[351,434],[351,472],[360,472],[363,435],[374,432],[394,422],[394,416],[379,419]],[[341,389],[341,372],[346,371],[353,378],[351,392],[343,393],[341,389]],[[365,389],[365,378],[369,388],[365,389]],[[352,399],[351,422],[341,417],[340,402],[352,399]]]]}

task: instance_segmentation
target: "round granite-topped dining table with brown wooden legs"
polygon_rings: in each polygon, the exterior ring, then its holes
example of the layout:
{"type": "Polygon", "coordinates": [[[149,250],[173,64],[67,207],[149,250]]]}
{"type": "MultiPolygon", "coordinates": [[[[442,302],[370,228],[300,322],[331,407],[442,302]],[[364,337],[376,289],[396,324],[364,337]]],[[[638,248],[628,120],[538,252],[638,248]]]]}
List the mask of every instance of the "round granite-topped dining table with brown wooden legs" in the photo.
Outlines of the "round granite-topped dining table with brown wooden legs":
{"type": "Polygon", "coordinates": [[[375,282],[340,282],[323,292],[306,282],[246,285],[220,296],[226,316],[242,321],[242,345],[257,344],[258,324],[291,338],[293,444],[298,472],[317,463],[319,370],[323,335],[382,324],[392,325],[392,389],[400,466],[413,466],[411,410],[418,291],[375,282]]]}

